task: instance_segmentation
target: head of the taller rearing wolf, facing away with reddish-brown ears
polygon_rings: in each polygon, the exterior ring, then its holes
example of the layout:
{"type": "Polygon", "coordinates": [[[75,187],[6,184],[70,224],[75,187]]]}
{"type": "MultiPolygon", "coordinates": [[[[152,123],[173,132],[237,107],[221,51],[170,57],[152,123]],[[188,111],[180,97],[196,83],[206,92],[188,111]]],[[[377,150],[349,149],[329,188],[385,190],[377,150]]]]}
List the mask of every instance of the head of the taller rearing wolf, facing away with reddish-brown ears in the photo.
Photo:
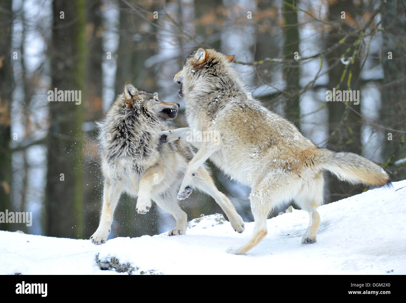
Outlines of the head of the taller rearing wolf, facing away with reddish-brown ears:
{"type": "Polygon", "coordinates": [[[185,94],[197,90],[221,89],[230,81],[238,85],[242,84],[239,75],[231,67],[234,57],[234,55],[227,56],[214,49],[203,47],[190,53],[186,57],[182,70],[173,77],[173,81],[181,85],[179,96],[184,98],[185,94]]]}

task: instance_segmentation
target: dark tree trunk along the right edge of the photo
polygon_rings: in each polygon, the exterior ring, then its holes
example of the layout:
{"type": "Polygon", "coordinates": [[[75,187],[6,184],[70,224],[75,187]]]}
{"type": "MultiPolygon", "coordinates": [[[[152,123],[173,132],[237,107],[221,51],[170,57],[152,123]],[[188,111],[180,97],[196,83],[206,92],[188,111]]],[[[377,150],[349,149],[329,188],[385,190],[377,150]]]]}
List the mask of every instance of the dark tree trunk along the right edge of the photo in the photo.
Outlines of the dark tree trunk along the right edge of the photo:
{"type": "MultiPolygon", "coordinates": [[[[384,2],[384,1],[382,1],[384,2]]],[[[386,1],[385,1],[386,2],[386,1]]],[[[383,3],[382,3],[383,4],[383,3]]],[[[406,130],[406,21],[399,8],[400,1],[391,1],[382,12],[382,123],[395,130],[406,130]],[[396,5],[397,3],[397,10],[396,5]],[[395,17],[396,16],[396,17],[395,17]],[[392,59],[389,59],[389,51],[392,59]]],[[[401,6],[402,7],[402,6],[401,6]]],[[[392,181],[404,179],[405,163],[395,165],[396,160],[406,158],[406,135],[402,132],[384,130],[384,166],[392,181]],[[390,140],[391,139],[391,140],[390,140]]]]}

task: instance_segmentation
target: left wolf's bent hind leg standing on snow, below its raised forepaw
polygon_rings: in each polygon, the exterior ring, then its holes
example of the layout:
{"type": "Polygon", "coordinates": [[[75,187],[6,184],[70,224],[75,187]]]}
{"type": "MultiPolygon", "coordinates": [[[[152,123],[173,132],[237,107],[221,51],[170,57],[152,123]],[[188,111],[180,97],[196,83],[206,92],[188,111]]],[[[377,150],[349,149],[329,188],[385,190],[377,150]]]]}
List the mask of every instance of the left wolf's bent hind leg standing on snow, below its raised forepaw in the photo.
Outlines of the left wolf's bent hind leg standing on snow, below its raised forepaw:
{"type": "Polygon", "coordinates": [[[170,191],[166,194],[153,196],[153,201],[164,211],[170,213],[176,220],[175,228],[169,230],[168,236],[185,235],[188,226],[188,216],[181,210],[176,199],[176,192],[170,191]]]}

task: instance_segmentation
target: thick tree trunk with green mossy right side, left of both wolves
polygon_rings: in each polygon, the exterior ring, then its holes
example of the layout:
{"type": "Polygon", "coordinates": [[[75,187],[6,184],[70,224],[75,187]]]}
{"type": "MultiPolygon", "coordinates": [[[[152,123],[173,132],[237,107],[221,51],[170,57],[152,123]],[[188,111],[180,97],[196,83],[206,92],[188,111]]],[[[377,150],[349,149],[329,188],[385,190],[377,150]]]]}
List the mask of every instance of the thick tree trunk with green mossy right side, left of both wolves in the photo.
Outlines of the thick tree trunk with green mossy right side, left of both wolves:
{"type": "MultiPolygon", "coordinates": [[[[85,2],[52,3],[54,23],[51,43],[51,90],[81,91],[75,102],[49,102],[48,172],[45,190],[44,231],[47,236],[82,238],[83,168],[82,122],[84,91],[85,2]],[[60,19],[60,12],[65,19],[60,19]],[[64,174],[64,181],[61,181],[64,174]]],[[[56,98],[56,96],[54,96],[56,98]]],[[[56,100],[56,99],[55,99],[56,100]]]]}

